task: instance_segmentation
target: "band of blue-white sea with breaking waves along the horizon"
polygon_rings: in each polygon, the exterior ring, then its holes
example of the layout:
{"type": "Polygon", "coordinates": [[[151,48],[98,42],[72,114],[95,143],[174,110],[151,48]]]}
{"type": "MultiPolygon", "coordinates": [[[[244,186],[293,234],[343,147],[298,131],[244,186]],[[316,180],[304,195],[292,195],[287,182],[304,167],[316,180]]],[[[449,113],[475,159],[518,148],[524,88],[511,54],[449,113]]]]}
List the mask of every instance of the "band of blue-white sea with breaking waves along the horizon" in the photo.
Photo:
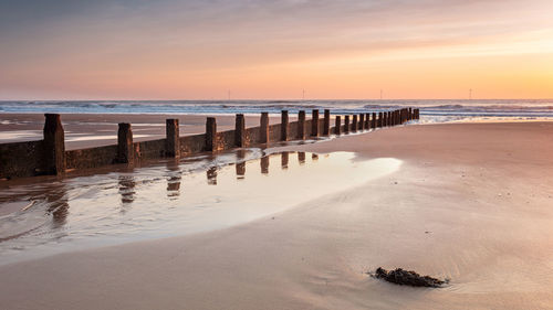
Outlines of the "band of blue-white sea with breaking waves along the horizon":
{"type": "Polygon", "coordinates": [[[553,120],[553,99],[425,100],[3,100],[3,114],[280,114],[330,109],[332,114],[420,108],[421,122],[462,120],[553,120]]]}

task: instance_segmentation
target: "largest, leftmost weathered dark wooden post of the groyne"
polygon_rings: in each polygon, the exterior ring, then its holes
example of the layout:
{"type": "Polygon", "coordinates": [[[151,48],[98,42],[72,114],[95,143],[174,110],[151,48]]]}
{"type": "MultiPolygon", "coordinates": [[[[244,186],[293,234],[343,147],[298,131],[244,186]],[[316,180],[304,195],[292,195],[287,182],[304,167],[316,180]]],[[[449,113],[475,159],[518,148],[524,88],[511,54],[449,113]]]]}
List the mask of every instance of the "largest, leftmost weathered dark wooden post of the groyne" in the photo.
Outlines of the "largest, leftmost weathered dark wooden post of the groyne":
{"type": "Polygon", "coordinates": [[[43,128],[44,173],[62,174],[65,172],[65,133],[59,114],[45,114],[43,128]]]}

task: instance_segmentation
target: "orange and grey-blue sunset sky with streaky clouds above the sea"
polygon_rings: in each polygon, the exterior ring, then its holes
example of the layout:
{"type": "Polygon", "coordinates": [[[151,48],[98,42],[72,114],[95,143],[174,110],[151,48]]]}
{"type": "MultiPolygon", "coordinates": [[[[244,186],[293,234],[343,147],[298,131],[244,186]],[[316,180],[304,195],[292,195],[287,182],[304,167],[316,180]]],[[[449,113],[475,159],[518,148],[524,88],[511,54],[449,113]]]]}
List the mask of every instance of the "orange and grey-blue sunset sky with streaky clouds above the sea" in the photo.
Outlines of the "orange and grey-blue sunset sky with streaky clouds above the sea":
{"type": "Polygon", "coordinates": [[[551,0],[0,0],[0,100],[553,98],[551,0]]]}

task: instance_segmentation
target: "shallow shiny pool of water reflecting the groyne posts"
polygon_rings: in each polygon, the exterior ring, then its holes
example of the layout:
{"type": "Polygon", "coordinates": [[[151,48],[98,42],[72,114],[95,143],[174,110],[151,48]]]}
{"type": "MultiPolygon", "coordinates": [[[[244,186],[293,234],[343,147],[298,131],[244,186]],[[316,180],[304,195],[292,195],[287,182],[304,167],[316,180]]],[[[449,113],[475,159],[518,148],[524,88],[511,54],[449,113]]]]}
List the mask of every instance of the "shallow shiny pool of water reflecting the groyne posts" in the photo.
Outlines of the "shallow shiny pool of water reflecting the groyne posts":
{"type": "Polygon", "coordinates": [[[247,160],[259,154],[238,150],[0,190],[0,202],[30,205],[0,217],[1,261],[221,229],[358,186],[400,164],[354,162],[345,152],[247,160]]]}

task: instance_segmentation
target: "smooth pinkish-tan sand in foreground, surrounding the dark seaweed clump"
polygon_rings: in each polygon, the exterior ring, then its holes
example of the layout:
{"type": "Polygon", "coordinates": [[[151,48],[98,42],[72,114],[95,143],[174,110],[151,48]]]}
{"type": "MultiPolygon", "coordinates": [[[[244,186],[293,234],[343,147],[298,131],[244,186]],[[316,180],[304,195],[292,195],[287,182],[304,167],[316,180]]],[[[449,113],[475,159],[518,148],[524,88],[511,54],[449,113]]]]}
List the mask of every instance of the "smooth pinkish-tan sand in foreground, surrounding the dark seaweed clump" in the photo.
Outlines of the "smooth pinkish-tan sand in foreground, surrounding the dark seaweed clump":
{"type": "Polygon", "coordinates": [[[408,126],[288,149],[404,164],[274,218],[4,265],[0,309],[553,308],[553,124],[408,126]],[[364,274],[378,266],[451,284],[364,274]]]}

